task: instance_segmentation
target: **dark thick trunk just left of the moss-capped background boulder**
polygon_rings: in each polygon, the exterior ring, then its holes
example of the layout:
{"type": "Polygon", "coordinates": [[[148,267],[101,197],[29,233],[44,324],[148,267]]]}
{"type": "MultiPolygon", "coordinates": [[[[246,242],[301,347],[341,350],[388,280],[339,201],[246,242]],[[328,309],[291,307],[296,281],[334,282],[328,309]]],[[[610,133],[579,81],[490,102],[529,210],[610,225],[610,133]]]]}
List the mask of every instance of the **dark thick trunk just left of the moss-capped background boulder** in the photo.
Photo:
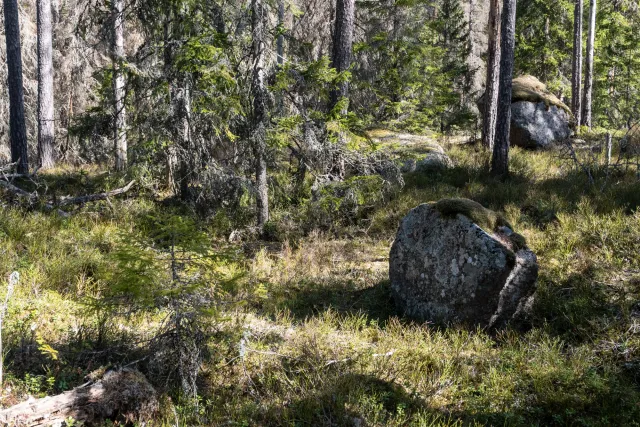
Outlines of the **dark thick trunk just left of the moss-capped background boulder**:
{"type": "Polygon", "coordinates": [[[516,0],[504,0],[500,28],[500,89],[496,139],[491,158],[491,174],[509,174],[509,132],[511,130],[511,86],[516,40],[516,0]]]}

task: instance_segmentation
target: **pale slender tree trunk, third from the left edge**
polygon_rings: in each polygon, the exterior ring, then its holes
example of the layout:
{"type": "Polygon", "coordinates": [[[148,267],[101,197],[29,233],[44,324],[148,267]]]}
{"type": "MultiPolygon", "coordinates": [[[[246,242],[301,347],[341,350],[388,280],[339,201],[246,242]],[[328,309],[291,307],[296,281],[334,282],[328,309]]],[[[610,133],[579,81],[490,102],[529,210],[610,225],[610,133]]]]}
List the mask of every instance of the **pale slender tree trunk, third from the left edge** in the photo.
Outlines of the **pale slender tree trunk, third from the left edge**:
{"type": "Polygon", "coordinates": [[[113,0],[113,98],[116,169],[127,167],[127,118],[124,87],[124,1],[113,0]]]}

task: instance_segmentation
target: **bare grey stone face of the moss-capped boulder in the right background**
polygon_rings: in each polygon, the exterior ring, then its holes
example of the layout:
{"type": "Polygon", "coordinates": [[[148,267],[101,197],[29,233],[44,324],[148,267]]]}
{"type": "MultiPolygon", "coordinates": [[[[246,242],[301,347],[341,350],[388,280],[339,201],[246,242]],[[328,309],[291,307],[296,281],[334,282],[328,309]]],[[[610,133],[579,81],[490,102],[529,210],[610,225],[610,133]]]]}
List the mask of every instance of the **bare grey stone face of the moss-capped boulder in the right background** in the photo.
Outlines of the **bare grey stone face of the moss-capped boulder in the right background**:
{"type": "Polygon", "coordinates": [[[571,136],[567,113],[544,102],[518,101],[511,104],[511,145],[550,148],[571,136]]]}

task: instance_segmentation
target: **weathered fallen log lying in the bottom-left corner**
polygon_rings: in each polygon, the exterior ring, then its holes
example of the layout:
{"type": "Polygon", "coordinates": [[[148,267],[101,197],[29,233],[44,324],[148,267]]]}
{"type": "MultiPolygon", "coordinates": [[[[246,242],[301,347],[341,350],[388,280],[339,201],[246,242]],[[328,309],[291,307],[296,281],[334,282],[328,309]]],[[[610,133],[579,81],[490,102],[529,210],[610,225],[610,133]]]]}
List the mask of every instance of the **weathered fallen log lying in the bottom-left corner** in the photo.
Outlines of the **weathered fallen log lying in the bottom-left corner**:
{"type": "Polygon", "coordinates": [[[61,426],[69,419],[88,425],[103,425],[105,420],[144,422],[158,409],[158,395],[144,375],[123,368],[57,396],[31,398],[0,410],[0,425],[61,426]]]}

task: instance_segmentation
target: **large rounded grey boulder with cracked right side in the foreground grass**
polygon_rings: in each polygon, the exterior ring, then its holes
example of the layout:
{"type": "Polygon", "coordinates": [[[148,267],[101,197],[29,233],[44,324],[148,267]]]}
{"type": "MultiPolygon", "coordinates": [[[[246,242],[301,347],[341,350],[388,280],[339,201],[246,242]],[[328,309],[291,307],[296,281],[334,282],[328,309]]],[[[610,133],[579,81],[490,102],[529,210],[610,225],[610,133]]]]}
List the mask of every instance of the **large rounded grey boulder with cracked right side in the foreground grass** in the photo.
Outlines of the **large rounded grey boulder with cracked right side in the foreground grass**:
{"type": "Polygon", "coordinates": [[[500,215],[471,200],[445,199],[401,221],[389,276],[408,317],[497,329],[526,319],[538,264],[500,215]]]}

